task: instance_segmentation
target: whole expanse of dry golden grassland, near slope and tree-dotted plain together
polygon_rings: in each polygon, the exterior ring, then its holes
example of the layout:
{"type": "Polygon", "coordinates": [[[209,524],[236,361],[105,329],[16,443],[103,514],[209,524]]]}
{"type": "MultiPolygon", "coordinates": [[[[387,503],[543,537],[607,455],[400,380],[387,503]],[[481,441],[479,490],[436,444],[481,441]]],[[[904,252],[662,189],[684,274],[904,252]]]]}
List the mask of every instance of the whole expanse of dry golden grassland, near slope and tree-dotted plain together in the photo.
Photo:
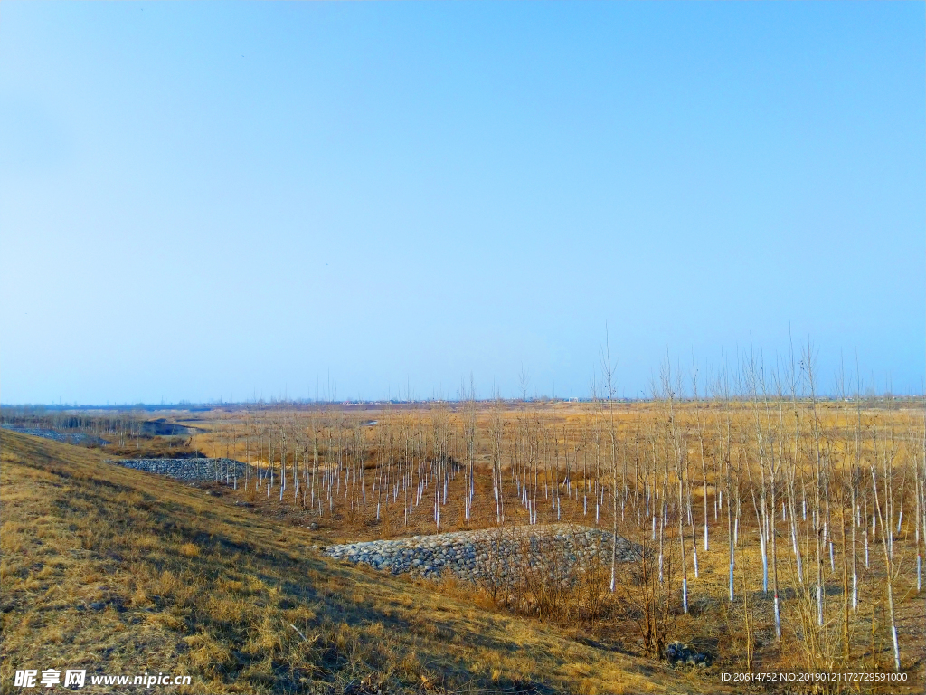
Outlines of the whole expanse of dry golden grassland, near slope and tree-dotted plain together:
{"type": "Polygon", "coordinates": [[[102,451],[3,433],[4,684],[28,654],[100,673],[169,665],[210,692],[922,689],[921,404],[94,417],[80,429],[112,442],[102,451]],[[102,462],[192,455],[243,465],[184,485],[102,462]],[[346,550],[550,524],[594,530],[604,550],[544,546],[543,572],[504,577],[478,545],[427,571],[346,550]],[[631,559],[612,562],[615,535],[631,559]],[[707,667],[674,664],[673,642],[707,667]],[[723,680],[735,673],[797,679],[723,680]]]}

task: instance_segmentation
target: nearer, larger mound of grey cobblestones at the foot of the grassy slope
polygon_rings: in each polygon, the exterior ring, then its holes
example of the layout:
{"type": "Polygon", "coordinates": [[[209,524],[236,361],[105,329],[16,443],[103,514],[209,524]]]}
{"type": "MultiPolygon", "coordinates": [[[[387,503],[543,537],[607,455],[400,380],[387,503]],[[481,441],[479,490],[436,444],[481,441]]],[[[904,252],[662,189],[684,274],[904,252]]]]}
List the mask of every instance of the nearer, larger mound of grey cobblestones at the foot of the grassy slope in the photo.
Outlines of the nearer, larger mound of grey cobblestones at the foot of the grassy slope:
{"type": "MultiPolygon", "coordinates": [[[[613,540],[612,533],[598,528],[548,524],[371,540],[321,550],[337,560],[363,562],[394,575],[454,576],[481,583],[547,573],[569,580],[596,562],[609,564],[613,540]]],[[[619,562],[634,558],[631,544],[622,537],[617,556],[619,562]]]]}

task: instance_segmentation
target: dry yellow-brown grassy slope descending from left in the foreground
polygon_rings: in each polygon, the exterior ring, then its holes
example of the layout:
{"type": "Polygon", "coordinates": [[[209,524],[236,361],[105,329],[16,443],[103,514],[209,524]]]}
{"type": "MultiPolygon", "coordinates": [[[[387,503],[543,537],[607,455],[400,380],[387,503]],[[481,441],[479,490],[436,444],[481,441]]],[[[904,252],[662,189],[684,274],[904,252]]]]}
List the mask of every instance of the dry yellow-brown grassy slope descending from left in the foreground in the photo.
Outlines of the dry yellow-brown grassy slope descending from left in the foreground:
{"type": "Polygon", "coordinates": [[[197,693],[720,685],[329,561],[303,529],[97,452],[0,444],[3,692],[16,668],[50,667],[189,674],[197,693]]]}

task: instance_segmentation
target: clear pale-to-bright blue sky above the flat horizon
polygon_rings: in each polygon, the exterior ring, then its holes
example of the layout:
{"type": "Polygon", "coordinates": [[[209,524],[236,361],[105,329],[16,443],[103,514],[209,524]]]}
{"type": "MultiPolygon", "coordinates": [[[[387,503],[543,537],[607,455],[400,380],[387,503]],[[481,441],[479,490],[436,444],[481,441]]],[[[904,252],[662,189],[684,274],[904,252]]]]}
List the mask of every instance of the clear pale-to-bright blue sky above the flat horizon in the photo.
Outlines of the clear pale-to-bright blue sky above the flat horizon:
{"type": "Polygon", "coordinates": [[[920,392],[924,8],[6,0],[0,400],[920,392]]]}

